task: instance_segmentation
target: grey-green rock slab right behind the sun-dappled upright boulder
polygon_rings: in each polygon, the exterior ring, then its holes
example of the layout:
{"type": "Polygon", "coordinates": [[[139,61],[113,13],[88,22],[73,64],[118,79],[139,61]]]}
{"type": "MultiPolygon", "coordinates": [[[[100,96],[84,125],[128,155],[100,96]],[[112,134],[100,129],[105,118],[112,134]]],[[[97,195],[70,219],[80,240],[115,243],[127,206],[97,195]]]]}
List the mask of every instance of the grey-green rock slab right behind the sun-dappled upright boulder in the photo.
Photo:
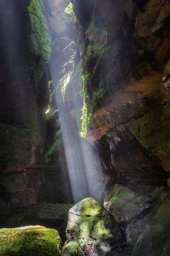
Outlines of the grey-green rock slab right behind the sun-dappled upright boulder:
{"type": "Polygon", "coordinates": [[[117,222],[129,222],[151,208],[162,192],[161,187],[144,187],[142,191],[116,184],[104,199],[104,208],[117,222]]]}

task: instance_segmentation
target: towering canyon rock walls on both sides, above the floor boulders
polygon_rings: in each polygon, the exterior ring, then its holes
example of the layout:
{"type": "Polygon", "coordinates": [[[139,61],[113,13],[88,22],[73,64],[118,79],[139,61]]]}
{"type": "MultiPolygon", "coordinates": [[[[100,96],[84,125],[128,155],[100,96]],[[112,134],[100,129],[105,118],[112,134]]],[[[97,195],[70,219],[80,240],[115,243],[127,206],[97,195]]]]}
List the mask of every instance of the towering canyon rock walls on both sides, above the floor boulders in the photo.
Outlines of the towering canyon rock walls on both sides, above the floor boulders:
{"type": "Polygon", "coordinates": [[[61,112],[98,150],[104,186],[166,184],[169,1],[1,7],[1,198],[13,208],[72,200],[61,112]]]}

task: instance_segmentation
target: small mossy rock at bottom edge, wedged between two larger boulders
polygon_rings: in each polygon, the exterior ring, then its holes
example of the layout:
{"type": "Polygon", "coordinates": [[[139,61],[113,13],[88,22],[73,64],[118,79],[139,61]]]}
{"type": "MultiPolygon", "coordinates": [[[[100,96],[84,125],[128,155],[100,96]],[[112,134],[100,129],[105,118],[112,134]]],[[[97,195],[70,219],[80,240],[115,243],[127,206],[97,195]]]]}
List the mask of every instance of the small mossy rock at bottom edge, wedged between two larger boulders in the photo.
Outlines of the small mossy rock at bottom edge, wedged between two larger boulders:
{"type": "Polygon", "coordinates": [[[69,244],[63,246],[62,249],[63,256],[83,256],[82,248],[77,242],[71,241],[69,244]]]}

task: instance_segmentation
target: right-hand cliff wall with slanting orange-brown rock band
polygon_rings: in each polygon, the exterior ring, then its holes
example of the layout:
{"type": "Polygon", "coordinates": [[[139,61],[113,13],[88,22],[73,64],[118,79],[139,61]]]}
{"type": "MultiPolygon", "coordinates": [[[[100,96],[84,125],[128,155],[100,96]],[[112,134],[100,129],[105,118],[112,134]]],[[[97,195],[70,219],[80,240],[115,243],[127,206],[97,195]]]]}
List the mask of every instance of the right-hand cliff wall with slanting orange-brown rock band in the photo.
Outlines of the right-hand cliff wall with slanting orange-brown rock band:
{"type": "Polygon", "coordinates": [[[169,171],[169,2],[93,1],[89,10],[80,15],[87,139],[118,179],[161,182],[169,171]]]}

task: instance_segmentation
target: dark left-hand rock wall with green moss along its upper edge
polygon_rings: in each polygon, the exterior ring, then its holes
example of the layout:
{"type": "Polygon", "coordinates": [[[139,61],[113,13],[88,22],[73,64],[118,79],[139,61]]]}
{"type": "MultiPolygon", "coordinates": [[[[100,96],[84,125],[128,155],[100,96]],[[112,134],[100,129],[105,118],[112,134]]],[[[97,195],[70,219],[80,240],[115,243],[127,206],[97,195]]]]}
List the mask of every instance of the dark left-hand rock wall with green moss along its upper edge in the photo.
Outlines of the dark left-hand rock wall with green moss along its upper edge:
{"type": "Polygon", "coordinates": [[[22,208],[36,203],[30,170],[40,170],[40,184],[45,151],[51,37],[40,1],[1,1],[1,37],[0,184],[22,208]]]}

